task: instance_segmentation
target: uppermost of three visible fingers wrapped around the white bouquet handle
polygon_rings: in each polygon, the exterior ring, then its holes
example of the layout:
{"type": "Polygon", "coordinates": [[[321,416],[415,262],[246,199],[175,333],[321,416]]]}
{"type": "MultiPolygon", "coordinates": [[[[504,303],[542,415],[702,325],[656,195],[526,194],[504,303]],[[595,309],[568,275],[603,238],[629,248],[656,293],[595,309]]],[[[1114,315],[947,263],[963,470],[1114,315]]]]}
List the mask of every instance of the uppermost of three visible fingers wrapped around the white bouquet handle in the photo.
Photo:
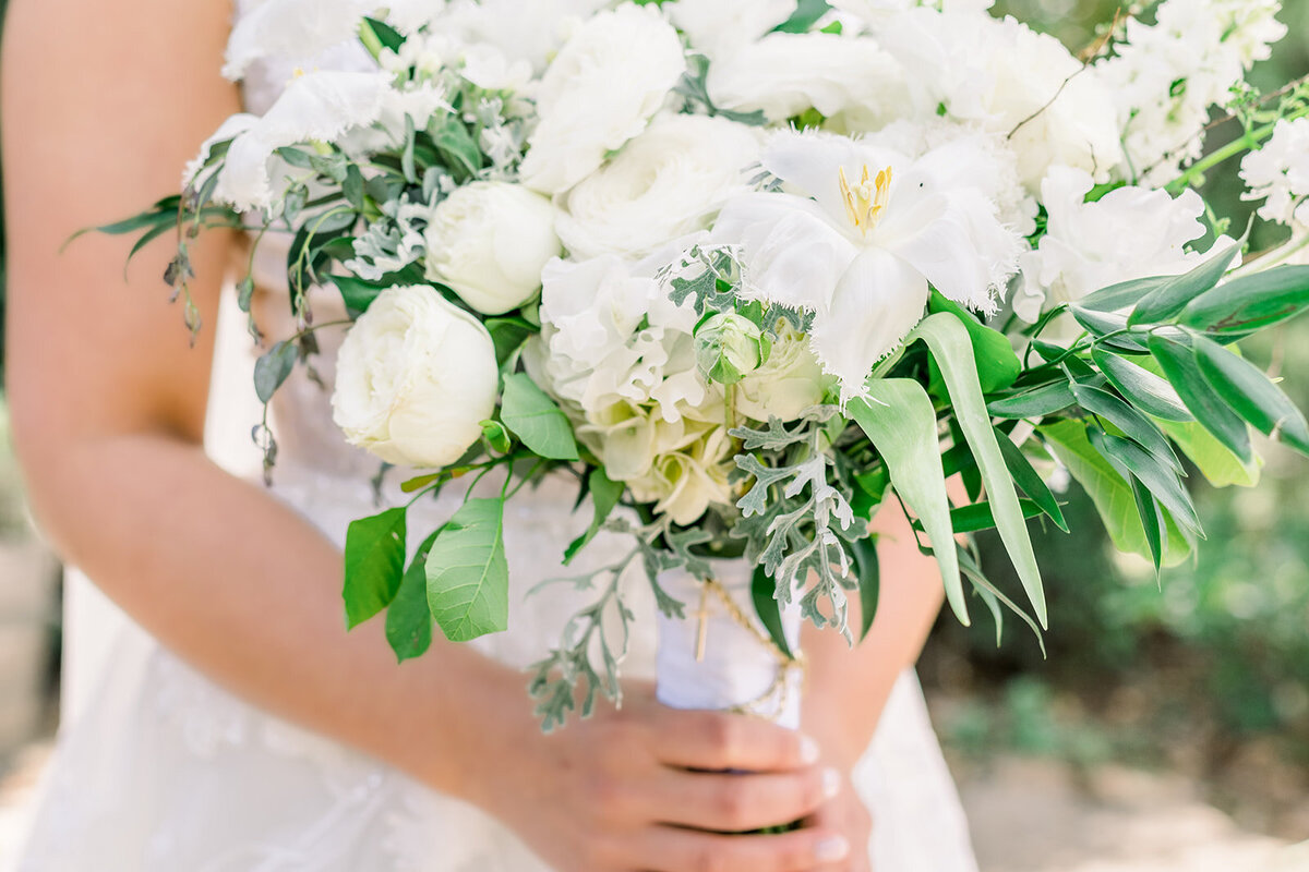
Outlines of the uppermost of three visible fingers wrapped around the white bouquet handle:
{"type": "Polygon", "coordinates": [[[664,709],[654,728],[654,753],[669,766],[781,773],[818,761],[812,739],[744,715],[664,709]]]}

